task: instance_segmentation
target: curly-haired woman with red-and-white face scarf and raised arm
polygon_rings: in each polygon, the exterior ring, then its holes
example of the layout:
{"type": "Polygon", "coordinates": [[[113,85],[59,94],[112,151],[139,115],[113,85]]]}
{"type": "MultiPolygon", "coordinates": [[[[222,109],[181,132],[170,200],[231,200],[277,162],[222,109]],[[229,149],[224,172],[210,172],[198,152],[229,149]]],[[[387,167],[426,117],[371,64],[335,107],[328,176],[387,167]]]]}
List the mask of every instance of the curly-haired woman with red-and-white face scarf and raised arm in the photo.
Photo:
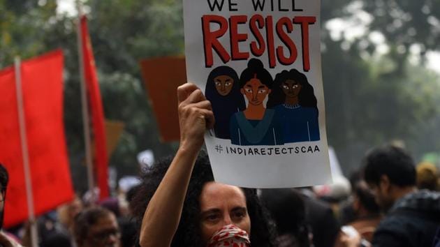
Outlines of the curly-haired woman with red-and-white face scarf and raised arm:
{"type": "Polygon", "coordinates": [[[207,156],[198,154],[214,123],[210,102],[194,84],[182,85],[177,95],[177,154],[147,170],[133,201],[140,246],[272,246],[255,190],[215,182],[207,156]]]}

